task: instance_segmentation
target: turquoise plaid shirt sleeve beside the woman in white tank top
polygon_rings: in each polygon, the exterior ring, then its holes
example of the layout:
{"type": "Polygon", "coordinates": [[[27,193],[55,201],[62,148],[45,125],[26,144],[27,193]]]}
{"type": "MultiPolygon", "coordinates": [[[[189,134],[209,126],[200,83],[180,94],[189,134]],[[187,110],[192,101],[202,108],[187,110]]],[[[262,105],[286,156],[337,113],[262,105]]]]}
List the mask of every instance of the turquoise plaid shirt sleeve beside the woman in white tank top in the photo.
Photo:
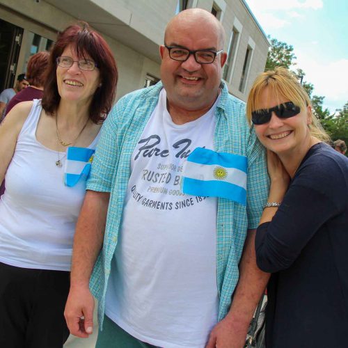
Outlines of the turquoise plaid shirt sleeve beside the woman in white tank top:
{"type": "Polygon", "coordinates": [[[95,150],[90,176],[86,189],[92,191],[110,192],[114,169],[118,159],[118,138],[116,117],[118,110],[122,109],[118,102],[109,113],[100,134],[100,140],[95,150]]]}

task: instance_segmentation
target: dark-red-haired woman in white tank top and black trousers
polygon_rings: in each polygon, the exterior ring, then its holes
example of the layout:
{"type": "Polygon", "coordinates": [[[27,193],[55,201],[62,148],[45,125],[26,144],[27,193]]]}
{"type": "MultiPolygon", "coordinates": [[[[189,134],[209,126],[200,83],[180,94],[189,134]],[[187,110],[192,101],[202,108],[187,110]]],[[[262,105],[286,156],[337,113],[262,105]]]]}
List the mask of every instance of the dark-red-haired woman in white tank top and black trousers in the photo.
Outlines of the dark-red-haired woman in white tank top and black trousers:
{"type": "Polygon", "coordinates": [[[58,348],[68,338],[74,227],[117,79],[102,36],[69,26],[49,55],[42,100],[17,104],[0,127],[0,347],[58,348]]]}

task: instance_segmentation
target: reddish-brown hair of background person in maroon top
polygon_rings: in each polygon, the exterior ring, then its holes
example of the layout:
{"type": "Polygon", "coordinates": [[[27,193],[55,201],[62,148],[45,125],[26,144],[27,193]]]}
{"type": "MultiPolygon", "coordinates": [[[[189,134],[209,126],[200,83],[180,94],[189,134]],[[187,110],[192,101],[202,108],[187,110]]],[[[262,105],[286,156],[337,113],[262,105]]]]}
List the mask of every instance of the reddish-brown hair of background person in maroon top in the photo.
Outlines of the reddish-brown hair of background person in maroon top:
{"type": "Polygon", "coordinates": [[[26,65],[26,79],[29,84],[35,87],[42,87],[45,84],[45,73],[48,66],[49,53],[39,52],[30,57],[26,65]]]}

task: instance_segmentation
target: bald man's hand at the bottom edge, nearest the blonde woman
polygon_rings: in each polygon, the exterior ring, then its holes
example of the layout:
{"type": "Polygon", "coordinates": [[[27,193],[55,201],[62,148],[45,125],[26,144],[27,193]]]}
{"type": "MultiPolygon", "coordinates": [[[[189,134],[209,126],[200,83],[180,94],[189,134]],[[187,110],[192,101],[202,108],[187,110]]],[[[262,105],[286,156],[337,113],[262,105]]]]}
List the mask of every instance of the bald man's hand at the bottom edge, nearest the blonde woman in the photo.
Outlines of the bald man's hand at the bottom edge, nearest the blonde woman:
{"type": "Polygon", "coordinates": [[[227,316],[212,329],[206,348],[243,348],[248,326],[248,322],[239,323],[227,316]]]}

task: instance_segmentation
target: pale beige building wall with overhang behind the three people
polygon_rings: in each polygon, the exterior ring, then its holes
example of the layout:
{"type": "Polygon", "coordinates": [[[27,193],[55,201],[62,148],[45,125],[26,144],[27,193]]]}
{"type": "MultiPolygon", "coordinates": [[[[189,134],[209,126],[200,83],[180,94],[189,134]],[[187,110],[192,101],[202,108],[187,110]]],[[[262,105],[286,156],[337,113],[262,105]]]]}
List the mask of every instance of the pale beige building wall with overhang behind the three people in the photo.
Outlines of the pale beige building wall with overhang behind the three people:
{"type": "MultiPolygon", "coordinates": [[[[226,31],[226,51],[234,24],[242,24],[228,88],[230,93],[245,101],[256,75],[264,70],[269,42],[262,29],[244,0],[189,0],[187,3],[188,7],[209,11],[213,7],[221,9],[217,17],[226,31]],[[251,44],[250,66],[241,91],[244,58],[251,44]]],[[[158,47],[163,43],[166,23],[175,15],[177,4],[177,0],[0,0],[0,19],[24,28],[22,45],[31,33],[54,40],[57,31],[77,19],[89,22],[102,33],[115,55],[119,70],[118,99],[142,88],[146,74],[159,78],[158,47]]],[[[26,66],[22,51],[17,74],[26,66]]]]}

